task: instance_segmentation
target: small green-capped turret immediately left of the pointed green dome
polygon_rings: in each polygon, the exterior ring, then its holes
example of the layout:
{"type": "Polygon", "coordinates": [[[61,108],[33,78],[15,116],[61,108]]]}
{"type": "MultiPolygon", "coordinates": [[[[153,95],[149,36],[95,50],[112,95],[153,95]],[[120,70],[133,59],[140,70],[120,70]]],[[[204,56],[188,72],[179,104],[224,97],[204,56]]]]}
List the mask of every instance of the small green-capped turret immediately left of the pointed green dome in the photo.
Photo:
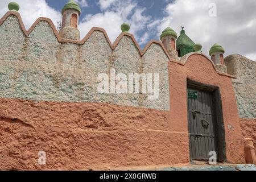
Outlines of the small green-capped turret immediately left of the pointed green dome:
{"type": "Polygon", "coordinates": [[[163,43],[164,48],[166,48],[166,51],[168,54],[174,58],[178,59],[177,51],[176,51],[176,39],[177,39],[177,34],[172,28],[167,27],[164,29],[160,36],[160,40],[163,43]]]}

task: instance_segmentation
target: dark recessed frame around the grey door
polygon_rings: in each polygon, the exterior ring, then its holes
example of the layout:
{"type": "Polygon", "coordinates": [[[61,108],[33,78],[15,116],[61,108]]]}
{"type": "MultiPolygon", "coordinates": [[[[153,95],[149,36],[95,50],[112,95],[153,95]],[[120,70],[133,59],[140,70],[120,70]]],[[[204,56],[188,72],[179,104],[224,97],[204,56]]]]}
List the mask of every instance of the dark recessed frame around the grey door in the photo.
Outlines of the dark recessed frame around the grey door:
{"type": "MultiPolygon", "coordinates": [[[[213,97],[213,116],[215,120],[215,142],[217,147],[217,162],[226,162],[226,138],[225,138],[225,125],[224,125],[224,119],[223,119],[223,113],[222,113],[222,101],[221,101],[221,93],[218,86],[213,85],[207,85],[203,84],[201,82],[193,81],[187,79],[187,97],[188,97],[188,88],[191,89],[199,89],[202,91],[207,91],[212,93],[213,97]]],[[[188,98],[187,98],[187,113],[188,113],[188,98]]],[[[189,119],[189,118],[188,118],[189,119]]],[[[187,121],[188,124],[189,121],[187,121]]],[[[189,125],[188,125],[188,133],[189,133],[189,125]]],[[[190,142],[190,136],[189,137],[189,157],[192,162],[192,158],[190,155],[191,151],[191,142],[190,142]]]]}

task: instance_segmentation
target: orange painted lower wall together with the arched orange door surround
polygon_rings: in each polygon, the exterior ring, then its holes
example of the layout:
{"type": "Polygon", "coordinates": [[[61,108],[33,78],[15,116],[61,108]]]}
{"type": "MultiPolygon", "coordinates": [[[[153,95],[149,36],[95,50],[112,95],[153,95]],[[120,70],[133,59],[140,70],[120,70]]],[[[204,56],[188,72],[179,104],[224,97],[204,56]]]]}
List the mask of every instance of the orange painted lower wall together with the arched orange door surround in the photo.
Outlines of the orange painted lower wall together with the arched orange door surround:
{"type": "Polygon", "coordinates": [[[226,157],[245,163],[232,80],[202,55],[169,62],[170,111],[0,99],[0,169],[120,169],[189,164],[187,79],[218,86],[226,157]],[[46,152],[39,166],[38,152],[46,152]]]}

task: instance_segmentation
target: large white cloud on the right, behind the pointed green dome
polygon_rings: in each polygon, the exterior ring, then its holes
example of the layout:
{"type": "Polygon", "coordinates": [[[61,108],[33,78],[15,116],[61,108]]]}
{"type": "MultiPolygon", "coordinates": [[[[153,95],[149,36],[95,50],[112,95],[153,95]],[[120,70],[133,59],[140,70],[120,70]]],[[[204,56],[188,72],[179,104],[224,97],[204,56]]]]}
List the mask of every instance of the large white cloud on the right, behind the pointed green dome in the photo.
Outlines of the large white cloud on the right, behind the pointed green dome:
{"type": "Polygon", "coordinates": [[[180,31],[185,26],[187,35],[203,45],[208,55],[214,43],[221,44],[225,55],[240,53],[256,60],[255,0],[176,0],[166,7],[159,20],[158,32],[170,26],[180,31]],[[209,4],[216,3],[217,16],[209,16],[209,4]]]}

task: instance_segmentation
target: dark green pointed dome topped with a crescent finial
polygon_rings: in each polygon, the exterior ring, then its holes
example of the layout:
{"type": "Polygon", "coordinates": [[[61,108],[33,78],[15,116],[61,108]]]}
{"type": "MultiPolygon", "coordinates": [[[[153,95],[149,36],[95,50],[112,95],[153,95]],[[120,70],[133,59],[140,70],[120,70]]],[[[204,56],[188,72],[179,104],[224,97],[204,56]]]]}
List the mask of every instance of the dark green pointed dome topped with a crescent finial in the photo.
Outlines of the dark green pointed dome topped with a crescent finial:
{"type": "Polygon", "coordinates": [[[176,40],[176,49],[179,57],[183,57],[187,53],[194,52],[195,43],[186,34],[184,27],[181,27],[180,36],[176,40]]]}

